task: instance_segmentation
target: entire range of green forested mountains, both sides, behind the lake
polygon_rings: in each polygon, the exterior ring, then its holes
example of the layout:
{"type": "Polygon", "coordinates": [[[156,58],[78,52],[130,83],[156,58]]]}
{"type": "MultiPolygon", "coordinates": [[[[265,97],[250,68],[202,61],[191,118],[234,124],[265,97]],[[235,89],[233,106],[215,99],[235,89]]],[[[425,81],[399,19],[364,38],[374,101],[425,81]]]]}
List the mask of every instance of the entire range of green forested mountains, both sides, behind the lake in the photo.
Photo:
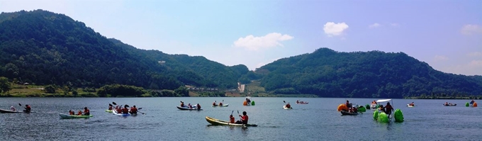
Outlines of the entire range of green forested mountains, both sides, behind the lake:
{"type": "Polygon", "coordinates": [[[0,14],[0,72],[11,81],[76,87],[235,89],[238,81],[260,81],[270,94],[389,98],[482,94],[481,76],[439,72],[403,52],[320,48],[252,72],[244,64],[229,67],[202,56],[140,50],[68,16],[43,10],[0,14]]]}

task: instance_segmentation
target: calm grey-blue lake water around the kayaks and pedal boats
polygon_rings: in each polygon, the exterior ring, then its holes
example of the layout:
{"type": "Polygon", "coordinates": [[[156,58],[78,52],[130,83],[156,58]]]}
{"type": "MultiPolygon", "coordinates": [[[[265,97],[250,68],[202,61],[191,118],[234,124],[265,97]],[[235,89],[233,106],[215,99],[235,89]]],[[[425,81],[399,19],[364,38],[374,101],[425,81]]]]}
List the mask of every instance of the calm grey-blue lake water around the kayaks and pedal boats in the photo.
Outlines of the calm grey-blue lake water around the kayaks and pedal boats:
{"type": "MultiPolygon", "coordinates": [[[[481,140],[482,110],[468,108],[469,100],[393,99],[403,111],[403,123],[377,123],[372,111],[341,116],[344,98],[0,98],[0,108],[30,104],[38,113],[0,113],[0,140],[481,140]],[[309,104],[295,104],[295,101],[309,104]],[[213,101],[228,107],[211,107],[213,101]],[[106,113],[108,103],[142,108],[145,115],[119,117],[106,113]],[[200,103],[204,111],[179,111],[179,101],[200,103]],[[292,103],[284,110],[283,101],[292,103]],[[458,106],[445,107],[446,101],[458,106]],[[415,108],[406,107],[415,102],[415,108]],[[70,109],[91,109],[93,118],[60,119],[70,109]],[[258,127],[211,126],[205,117],[228,120],[234,111],[247,111],[258,127]]],[[[350,98],[365,105],[376,99],[350,98]]],[[[482,101],[477,101],[482,103],[482,101]]],[[[238,120],[238,117],[236,118],[238,120]]]]}

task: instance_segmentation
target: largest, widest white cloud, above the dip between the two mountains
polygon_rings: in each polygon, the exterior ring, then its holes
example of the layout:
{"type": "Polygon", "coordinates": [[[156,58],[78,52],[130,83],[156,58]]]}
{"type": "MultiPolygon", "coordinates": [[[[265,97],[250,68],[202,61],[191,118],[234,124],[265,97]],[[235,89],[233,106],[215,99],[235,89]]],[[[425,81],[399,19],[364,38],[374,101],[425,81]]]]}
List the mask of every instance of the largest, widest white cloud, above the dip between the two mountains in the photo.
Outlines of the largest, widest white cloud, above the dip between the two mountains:
{"type": "Polygon", "coordinates": [[[245,38],[239,38],[234,42],[235,47],[245,47],[247,50],[259,50],[261,48],[283,46],[279,43],[284,40],[291,40],[293,36],[281,35],[281,33],[269,33],[261,37],[247,35],[245,38]]]}

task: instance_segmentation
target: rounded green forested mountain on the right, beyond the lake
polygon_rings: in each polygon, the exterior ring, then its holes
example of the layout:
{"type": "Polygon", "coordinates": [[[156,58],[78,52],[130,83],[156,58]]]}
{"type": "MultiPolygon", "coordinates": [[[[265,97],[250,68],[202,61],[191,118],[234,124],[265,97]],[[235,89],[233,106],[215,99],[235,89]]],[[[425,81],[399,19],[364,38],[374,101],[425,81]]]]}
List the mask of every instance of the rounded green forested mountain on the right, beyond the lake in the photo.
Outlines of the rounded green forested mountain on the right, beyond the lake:
{"type": "Polygon", "coordinates": [[[275,94],[317,94],[323,97],[402,98],[481,95],[481,76],[447,74],[403,52],[313,53],[276,60],[257,69],[261,85],[275,94]]]}

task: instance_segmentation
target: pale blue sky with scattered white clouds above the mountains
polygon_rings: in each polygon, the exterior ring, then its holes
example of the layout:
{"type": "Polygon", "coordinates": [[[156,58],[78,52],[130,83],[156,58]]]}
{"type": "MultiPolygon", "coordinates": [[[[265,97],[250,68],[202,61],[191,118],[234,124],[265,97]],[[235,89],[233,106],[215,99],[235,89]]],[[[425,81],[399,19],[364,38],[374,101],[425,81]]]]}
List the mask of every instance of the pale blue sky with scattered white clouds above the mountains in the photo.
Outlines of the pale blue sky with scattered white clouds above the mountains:
{"type": "Polygon", "coordinates": [[[482,75],[479,0],[0,0],[0,12],[35,9],[139,49],[250,70],[327,47],[405,52],[442,72],[482,75]]]}

